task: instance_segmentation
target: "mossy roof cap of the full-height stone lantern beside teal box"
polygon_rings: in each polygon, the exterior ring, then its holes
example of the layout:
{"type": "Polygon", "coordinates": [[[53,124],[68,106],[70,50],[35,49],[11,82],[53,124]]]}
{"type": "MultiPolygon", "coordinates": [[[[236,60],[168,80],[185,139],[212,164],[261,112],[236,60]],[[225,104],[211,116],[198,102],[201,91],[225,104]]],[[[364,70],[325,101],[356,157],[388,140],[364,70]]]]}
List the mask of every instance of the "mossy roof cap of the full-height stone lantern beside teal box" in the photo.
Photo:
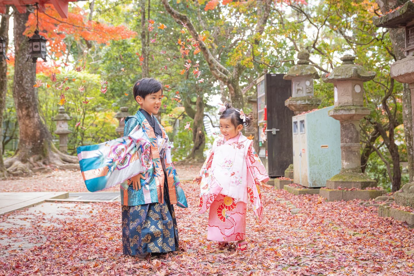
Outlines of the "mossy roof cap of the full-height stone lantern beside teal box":
{"type": "Polygon", "coordinates": [[[344,55],[342,65],[335,67],[332,72],[324,73],[322,80],[324,82],[336,82],[338,80],[356,79],[363,82],[370,81],[376,75],[375,72],[366,70],[361,65],[354,64],[355,56],[344,55]]]}

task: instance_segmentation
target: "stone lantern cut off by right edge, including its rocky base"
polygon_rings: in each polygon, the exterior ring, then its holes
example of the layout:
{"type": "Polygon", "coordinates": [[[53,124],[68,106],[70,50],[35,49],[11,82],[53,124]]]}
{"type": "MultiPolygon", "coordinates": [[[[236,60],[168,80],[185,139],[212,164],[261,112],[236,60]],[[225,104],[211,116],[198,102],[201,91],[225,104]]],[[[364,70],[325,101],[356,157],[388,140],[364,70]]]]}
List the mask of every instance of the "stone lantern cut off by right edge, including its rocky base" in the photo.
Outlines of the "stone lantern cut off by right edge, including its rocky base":
{"type": "MultiPolygon", "coordinates": [[[[405,48],[403,51],[406,58],[391,64],[390,75],[397,82],[409,84],[411,90],[411,111],[414,118],[414,3],[407,1],[382,17],[374,17],[373,24],[378,27],[405,29],[405,48]]],[[[395,202],[398,205],[414,208],[414,179],[412,182],[405,184],[398,192],[395,192],[394,196],[395,202]]],[[[407,219],[407,212],[399,209],[389,209],[389,207],[388,209],[382,207],[378,209],[378,212],[380,216],[392,216],[397,220],[407,221],[411,227],[414,227],[414,216],[409,221],[407,219]]]]}

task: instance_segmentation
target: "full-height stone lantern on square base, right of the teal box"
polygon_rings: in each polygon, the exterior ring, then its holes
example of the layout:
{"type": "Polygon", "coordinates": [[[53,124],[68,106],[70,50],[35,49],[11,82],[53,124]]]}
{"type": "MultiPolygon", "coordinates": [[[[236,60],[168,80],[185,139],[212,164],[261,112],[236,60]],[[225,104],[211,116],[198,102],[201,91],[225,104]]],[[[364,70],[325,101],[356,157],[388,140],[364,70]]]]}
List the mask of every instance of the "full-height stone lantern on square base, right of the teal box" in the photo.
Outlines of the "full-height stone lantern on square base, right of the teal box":
{"type": "Polygon", "coordinates": [[[373,79],[375,72],[355,65],[354,59],[354,56],[345,55],[341,58],[342,65],[335,67],[331,73],[322,75],[324,82],[334,84],[335,107],[329,111],[329,116],[339,120],[341,127],[341,172],[326,181],[326,189],[320,189],[320,195],[328,201],[370,199],[385,192],[364,190],[377,186],[376,181],[361,172],[359,144],[359,120],[370,113],[363,106],[363,82],[373,79]],[[358,190],[338,190],[339,187],[358,190]]]}

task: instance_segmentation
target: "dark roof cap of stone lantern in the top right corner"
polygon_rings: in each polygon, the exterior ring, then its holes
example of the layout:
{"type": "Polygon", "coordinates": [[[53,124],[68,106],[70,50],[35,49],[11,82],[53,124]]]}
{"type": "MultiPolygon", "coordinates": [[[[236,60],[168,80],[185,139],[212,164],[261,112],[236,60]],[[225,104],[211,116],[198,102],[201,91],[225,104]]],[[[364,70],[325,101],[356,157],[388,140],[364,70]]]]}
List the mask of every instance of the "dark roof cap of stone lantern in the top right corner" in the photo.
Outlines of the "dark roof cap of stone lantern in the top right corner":
{"type": "Polygon", "coordinates": [[[414,3],[409,0],[381,17],[374,16],[373,24],[377,27],[399,28],[404,27],[414,19],[414,3]]]}

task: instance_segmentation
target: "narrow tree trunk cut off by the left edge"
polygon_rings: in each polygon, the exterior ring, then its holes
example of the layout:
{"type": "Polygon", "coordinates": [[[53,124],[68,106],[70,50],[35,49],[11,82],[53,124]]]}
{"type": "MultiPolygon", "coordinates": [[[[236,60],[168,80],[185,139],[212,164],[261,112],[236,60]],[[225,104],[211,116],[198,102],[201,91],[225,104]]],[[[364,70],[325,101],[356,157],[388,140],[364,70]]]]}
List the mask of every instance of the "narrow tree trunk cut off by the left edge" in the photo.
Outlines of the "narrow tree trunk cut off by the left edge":
{"type": "MultiPolygon", "coordinates": [[[[10,7],[7,7],[6,13],[2,14],[0,22],[0,36],[6,41],[9,40],[9,15],[10,7]]],[[[6,43],[6,48],[3,51],[6,51],[8,47],[8,42],[6,43]]],[[[0,62],[0,133],[2,133],[3,126],[3,113],[6,106],[6,93],[7,93],[7,62],[6,59],[3,59],[0,62]]],[[[2,139],[0,139],[0,178],[7,177],[7,171],[3,163],[3,145],[2,139]]]]}

